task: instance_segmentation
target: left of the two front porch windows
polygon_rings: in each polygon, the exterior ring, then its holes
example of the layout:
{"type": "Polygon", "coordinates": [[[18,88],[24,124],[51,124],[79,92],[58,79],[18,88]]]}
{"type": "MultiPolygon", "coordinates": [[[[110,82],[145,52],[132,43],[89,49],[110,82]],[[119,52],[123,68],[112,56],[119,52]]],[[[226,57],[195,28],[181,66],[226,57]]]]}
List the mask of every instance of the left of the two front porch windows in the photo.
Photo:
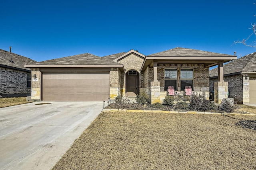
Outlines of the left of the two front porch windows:
{"type": "Polygon", "coordinates": [[[177,90],[177,69],[164,69],[164,90],[167,90],[168,86],[173,86],[174,90],[177,90]]]}

